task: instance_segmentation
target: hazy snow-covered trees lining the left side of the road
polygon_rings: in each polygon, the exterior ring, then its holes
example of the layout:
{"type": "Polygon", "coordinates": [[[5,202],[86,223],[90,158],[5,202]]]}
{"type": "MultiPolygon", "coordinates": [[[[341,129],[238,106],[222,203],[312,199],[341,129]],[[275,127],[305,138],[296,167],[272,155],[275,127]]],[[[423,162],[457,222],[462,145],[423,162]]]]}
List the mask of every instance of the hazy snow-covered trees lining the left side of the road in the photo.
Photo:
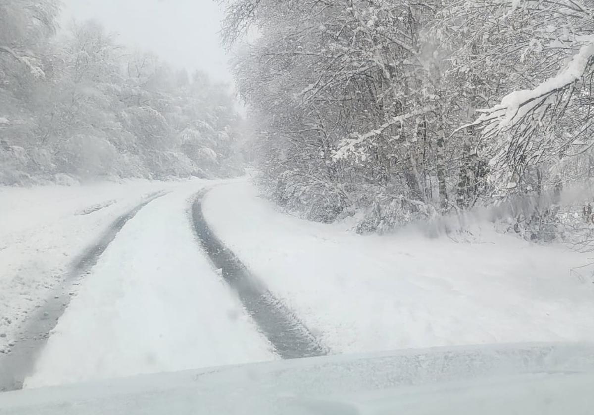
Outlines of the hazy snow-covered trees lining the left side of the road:
{"type": "MultiPolygon", "coordinates": [[[[13,14],[27,16],[19,7],[27,2],[17,3],[8,2],[13,14]]],[[[22,27],[25,21],[11,22],[14,33],[30,33],[22,27]]],[[[241,173],[232,156],[238,116],[225,85],[214,85],[206,75],[190,79],[156,56],[130,53],[92,21],[72,25],[59,38],[39,37],[42,44],[36,59],[43,76],[18,68],[14,57],[7,60],[12,66],[1,66],[0,183],[53,180],[56,174],[86,179],[241,173]],[[187,154],[183,132],[192,128],[204,132],[197,149],[203,157],[187,154]]],[[[1,59],[7,58],[0,53],[1,59]]]]}

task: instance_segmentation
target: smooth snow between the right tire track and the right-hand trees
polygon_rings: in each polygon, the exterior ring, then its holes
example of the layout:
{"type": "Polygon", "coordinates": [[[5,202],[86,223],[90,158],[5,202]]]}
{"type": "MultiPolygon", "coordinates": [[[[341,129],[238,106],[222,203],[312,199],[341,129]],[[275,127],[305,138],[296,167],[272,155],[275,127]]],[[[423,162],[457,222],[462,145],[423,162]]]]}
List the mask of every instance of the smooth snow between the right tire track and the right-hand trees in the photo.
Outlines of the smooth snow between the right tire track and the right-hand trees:
{"type": "Polygon", "coordinates": [[[215,187],[217,235],[333,352],[594,341],[587,263],[482,226],[481,243],[406,232],[362,237],[277,211],[248,183],[215,187]]]}

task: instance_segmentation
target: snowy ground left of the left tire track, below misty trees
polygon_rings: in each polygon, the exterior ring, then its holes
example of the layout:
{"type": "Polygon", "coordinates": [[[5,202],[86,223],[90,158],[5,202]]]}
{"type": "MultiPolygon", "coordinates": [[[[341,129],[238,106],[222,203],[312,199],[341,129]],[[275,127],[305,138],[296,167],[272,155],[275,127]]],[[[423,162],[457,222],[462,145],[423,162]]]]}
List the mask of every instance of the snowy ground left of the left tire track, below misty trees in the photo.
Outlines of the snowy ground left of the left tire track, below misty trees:
{"type": "Polygon", "coordinates": [[[184,182],[0,187],[0,353],[74,258],[148,193],[184,182]]]}

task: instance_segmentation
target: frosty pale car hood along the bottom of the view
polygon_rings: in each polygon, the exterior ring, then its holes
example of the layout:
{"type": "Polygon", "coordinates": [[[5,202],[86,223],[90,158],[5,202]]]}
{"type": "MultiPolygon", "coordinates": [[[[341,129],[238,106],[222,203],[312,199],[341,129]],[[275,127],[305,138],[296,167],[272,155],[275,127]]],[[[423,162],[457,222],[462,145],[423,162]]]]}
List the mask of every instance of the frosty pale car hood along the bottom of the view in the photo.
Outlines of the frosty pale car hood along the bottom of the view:
{"type": "Polygon", "coordinates": [[[0,414],[591,414],[594,346],[328,356],[0,394],[0,414]]]}

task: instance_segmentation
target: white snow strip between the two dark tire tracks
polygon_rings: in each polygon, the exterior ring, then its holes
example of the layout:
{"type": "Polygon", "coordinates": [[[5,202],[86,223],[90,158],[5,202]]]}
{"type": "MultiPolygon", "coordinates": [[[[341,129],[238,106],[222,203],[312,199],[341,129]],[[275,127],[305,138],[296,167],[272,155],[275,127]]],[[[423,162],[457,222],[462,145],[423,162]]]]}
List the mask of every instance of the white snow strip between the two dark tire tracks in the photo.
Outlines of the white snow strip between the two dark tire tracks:
{"type": "Polygon", "coordinates": [[[26,387],[275,358],[195,240],[189,198],[199,189],[153,200],[124,225],[26,387]]]}

